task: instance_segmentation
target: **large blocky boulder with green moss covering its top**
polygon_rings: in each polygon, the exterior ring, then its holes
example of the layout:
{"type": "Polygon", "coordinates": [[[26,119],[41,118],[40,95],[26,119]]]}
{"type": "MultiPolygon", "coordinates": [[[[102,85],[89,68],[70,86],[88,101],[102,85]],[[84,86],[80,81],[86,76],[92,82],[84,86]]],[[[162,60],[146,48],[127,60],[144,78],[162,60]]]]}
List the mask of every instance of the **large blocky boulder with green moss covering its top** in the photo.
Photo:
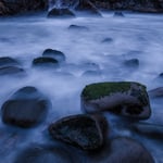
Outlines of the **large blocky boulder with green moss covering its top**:
{"type": "Polygon", "coordinates": [[[136,120],[146,120],[151,115],[146,87],[134,82],[86,86],[82,92],[82,109],[86,113],[110,111],[136,120]]]}

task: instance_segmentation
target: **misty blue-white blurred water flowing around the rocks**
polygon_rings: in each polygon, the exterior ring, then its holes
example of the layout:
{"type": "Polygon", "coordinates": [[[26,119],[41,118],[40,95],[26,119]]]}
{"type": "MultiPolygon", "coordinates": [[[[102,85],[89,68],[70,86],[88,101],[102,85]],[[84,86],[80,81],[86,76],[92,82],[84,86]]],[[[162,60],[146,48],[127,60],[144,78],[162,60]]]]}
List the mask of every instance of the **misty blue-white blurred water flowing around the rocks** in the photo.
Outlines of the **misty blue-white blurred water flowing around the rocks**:
{"type": "MultiPolygon", "coordinates": [[[[0,77],[0,105],[23,86],[36,86],[53,104],[46,123],[36,129],[22,131],[7,128],[0,123],[0,162],[11,163],[15,148],[28,142],[46,141],[45,133],[49,123],[80,113],[79,95],[87,84],[135,80],[145,84],[148,90],[162,86],[155,79],[163,72],[162,27],[163,15],[129,13],[125,17],[113,17],[113,13],[108,13],[103,14],[103,18],[48,20],[42,15],[0,20],[0,57],[20,60],[27,72],[24,78],[0,77]],[[89,30],[68,30],[71,24],[86,26],[89,30]],[[108,37],[113,42],[102,43],[108,37]],[[61,50],[66,55],[66,64],[57,70],[58,74],[55,71],[32,68],[33,59],[40,57],[47,48],[61,50]],[[138,70],[128,70],[122,65],[124,60],[133,58],[140,61],[138,70]],[[86,71],[97,70],[85,63],[98,64],[101,75],[82,76],[86,71]],[[59,76],[59,73],[63,75],[59,76]]],[[[163,125],[162,103],[151,101],[151,106],[153,114],[149,122],[163,125]]],[[[131,136],[127,129],[118,133],[131,136]]],[[[163,162],[163,146],[160,142],[136,137],[143,141],[159,163],[163,162]]]]}

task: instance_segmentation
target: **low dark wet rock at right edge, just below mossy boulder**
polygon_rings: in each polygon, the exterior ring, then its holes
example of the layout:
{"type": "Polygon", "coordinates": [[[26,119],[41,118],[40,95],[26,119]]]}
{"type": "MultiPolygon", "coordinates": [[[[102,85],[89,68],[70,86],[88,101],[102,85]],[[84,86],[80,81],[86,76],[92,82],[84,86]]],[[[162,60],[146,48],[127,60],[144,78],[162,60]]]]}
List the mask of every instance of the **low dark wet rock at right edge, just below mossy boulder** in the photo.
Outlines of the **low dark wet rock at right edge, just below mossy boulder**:
{"type": "Polygon", "coordinates": [[[143,135],[148,138],[162,140],[163,139],[163,125],[152,123],[138,123],[133,126],[134,131],[143,135]]]}

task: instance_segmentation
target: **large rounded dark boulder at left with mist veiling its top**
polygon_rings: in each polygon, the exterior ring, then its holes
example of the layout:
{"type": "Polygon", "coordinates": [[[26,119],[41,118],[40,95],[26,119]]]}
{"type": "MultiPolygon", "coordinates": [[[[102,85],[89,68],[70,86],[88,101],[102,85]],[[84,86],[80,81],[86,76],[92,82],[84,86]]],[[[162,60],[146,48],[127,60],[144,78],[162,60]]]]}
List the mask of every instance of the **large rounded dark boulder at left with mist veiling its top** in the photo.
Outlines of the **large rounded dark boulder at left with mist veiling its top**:
{"type": "Polygon", "coordinates": [[[2,121],[20,127],[33,127],[46,118],[50,102],[35,87],[18,89],[1,108],[2,121]]]}

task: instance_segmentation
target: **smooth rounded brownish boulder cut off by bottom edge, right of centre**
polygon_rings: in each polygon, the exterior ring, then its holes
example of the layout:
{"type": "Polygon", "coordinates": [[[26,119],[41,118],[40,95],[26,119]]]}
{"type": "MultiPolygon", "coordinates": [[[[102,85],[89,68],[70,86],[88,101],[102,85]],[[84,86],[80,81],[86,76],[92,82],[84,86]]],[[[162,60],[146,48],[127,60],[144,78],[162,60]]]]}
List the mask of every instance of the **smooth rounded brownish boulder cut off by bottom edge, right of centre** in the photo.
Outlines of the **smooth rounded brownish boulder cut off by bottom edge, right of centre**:
{"type": "Polygon", "coordinates": [[[118,137],[100,152],[88,155],[86,163],[154,163],[154,160],[141,143],[127,137],[118,137]]]}

